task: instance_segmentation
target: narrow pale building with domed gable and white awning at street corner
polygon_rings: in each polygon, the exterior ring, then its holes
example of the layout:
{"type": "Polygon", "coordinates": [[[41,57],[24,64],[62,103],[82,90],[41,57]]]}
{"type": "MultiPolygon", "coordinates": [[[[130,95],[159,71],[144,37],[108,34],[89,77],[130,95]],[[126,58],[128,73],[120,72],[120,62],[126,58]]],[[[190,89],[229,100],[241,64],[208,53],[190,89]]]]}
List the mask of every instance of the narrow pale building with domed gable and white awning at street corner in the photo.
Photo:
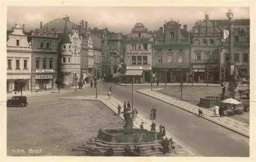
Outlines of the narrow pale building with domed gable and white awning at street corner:
{"type": "Polygon", "coordinates": [[[136,23],[125,40],[126,73],[138,75],[137,82],[150,82],[154,38],[142,23],[136,23]]]}

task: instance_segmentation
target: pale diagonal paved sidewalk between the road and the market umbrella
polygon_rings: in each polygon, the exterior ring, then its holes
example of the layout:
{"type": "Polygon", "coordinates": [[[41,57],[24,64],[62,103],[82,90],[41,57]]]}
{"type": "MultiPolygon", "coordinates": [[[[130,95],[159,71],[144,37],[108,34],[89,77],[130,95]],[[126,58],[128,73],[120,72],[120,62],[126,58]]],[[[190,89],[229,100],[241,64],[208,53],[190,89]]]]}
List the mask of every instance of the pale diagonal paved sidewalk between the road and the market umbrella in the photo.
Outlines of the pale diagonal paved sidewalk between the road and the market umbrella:
{"type": "MultiPolygon", "coordinates": [[[[155,89],[155,90],[161,90],[161,89],[159,88],[159,89],[155,89]]],[[[199,106],[197,106],[195,104],[192,104],[192,103],[189,103],[186,101],[181,101],[181,100],[178,100],[177,98],[166,96],[166,95],[163,95],[163,94],[155,92],[155,91],[151,91],[150,89],[141,89],[141,90],[137,90],[136,92],[156,98],[160,101],[177,106],[187,112],[198,115],[199,106]]],[[[201,107],[201,109],[203,109],[205,119],[207,119],[211,122],[214,122],[216,124],[219,124],[223,127],[226,127],[230,130],[233,130],[235,132],[238,132],[238,133],[249,138],[249,132],[250,132],[249,124],[240,122],[238,120],[231,119],[229,117],[223,117],[223,118],[215,117],[214,112],[212,112],[208,109],[204,109],[202,107],[201,107]]]]}

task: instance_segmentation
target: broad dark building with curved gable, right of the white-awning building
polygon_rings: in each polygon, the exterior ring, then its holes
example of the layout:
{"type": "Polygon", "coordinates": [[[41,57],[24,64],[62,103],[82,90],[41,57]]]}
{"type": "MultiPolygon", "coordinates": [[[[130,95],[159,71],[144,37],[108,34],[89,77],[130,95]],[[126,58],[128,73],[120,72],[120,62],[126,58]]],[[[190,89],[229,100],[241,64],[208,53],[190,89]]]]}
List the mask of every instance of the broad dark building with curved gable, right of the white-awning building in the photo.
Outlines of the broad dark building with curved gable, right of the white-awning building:
{"type": "Polygon", "coordinates": [[[188,82],[190,73],[190,37],[187,25],[167,21],[160,27],[154,45],[153,73],[160,82],[188,82]]]}

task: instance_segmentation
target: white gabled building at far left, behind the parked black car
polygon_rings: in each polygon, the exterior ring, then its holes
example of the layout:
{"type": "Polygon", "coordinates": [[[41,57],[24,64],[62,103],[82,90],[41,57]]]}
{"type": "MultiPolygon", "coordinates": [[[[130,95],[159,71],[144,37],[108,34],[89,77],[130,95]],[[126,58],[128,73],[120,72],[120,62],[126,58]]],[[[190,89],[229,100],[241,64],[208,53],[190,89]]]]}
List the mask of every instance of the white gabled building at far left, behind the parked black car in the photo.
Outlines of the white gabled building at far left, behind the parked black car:
{"type": "Polygon", "coordinates": [[[20,91],[20,82],[24,82],[23,91],[31,87],[31,45],[23,28],[16,23],[7,36],[7,93],[20,91]]]}

